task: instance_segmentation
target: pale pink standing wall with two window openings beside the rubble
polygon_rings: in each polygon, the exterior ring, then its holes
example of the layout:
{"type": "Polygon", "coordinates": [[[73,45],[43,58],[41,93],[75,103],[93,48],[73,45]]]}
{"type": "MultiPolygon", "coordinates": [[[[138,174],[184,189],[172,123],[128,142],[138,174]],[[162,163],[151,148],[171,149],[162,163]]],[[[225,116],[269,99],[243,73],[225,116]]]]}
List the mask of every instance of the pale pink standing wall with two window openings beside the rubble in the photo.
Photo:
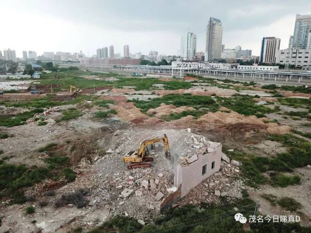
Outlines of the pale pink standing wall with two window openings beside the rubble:
{"type": "Polygon", "coordinates": [[[209,152],[199,155],[198,159],[188,166],[178,164],[174,166],[174,187],[181,186],[181,198],[185,197],[191,188],[195,187],[209,176],[218,172],[221,166],[222,144],[217,142],[208,142],[209,152]],[[212,162],[215,161],[215,167],[211,169],[212,162]],[[202,175],[202,167],[207,165],[207,172],[202,175]]]}

